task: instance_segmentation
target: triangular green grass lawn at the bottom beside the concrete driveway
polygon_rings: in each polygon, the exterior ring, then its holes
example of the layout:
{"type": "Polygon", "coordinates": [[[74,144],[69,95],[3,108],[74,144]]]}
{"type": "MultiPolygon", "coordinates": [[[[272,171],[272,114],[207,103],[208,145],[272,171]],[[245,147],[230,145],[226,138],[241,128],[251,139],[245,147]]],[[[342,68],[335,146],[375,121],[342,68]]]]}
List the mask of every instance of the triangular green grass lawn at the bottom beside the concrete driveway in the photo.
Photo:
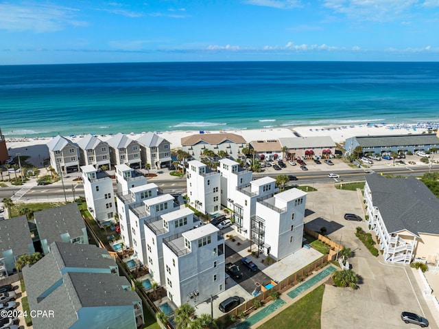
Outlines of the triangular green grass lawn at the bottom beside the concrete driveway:
{"type": "Polygon", "coordinates": [[[322,284],[258,328],[320,329],[323,291],[322,284]]]}

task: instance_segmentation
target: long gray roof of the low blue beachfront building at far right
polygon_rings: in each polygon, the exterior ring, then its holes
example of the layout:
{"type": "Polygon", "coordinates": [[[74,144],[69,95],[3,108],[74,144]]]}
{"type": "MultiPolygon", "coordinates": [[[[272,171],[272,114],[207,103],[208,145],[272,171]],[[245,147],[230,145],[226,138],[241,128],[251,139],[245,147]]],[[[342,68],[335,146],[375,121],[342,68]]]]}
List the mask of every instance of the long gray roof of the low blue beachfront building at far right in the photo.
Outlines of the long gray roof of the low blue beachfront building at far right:
{"type": "Polygon", "coordinates": [[[388,135],[388,136],[357,136],[359,146],[372,148],[379,146],[437,145],[436,135],[388,135]]]}

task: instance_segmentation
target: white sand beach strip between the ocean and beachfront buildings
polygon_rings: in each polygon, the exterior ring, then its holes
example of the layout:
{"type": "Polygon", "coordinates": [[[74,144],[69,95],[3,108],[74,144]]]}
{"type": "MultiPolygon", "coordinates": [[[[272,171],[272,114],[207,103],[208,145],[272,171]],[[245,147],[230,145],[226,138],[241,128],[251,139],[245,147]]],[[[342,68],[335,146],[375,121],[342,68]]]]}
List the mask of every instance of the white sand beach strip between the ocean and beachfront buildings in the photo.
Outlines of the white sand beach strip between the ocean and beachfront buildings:
{"type": "MultiPolygon", "coordinates": [[[[297,126],[291,128],[263,128],[263,129],[248,129],[248,130],[230,130],[230,131],[204,131],[204,134],[209,133],[234,133],[241,135],[247,142],[254,140],[278,139],[279,137],[313,137],[313,136],[329,136],[336,143],[343,143],[346,138],[353,136],[375,136],[375,135],[408,135],[427,133],[427,128],[420,128],[419,126],[413,128],[412,126],[395,126],[395,125],[368,125],[359,124],[355,126],[297,126]]],[[[182,137],[193,134],[199,134],[199,131],[167,131],[160,133],[160,136],[167,139],[171,143],[171,148],[180,148],[182,137]]],[[[136,139],[141,134],[129,135],[136,139]]],[[[110,139],[111,135],[98,136],[99,139],[106,141],[110,139]]],[[[49,158],[49,150],[46,146],[47,142],[52,137],[44,138],[10,138],[6,139],[6,146],[10,156],[16,156],[18,153],[23,156],[29,156],[29,162],[33,163],[38,168],[43,167],[43,160],[49,158]]],[[[74,143],[77,142],[80,135],[75,137],[67,137],[74,143]]]]}

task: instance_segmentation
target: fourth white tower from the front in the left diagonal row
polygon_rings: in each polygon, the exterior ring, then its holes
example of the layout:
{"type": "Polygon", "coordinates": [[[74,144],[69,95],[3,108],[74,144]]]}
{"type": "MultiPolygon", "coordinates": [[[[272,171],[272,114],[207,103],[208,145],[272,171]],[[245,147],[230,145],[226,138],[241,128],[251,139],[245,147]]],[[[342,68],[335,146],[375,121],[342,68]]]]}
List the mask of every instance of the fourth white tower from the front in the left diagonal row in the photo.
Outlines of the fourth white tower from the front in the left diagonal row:
{"type": "Polygon", "coordinates": [[[130,205],[140,204],[147,198],[154,198],[158,195],[158,187],[154,183],[147,183],[129,188],[128,192],[116,194],[117,211],[119,212],[119,226],[121,228],[121,239],[127,247],[132,247],[130,205]]]}

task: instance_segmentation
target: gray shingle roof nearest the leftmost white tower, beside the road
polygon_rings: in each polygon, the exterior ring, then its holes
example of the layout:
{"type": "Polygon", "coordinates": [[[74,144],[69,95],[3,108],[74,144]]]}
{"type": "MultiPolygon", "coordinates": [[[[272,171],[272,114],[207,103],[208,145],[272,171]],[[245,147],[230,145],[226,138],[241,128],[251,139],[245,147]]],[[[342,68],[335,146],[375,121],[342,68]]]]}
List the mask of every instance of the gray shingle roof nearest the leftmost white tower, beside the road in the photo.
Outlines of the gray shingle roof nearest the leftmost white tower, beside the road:
{"type": "Polygon", "coordinates": [[[62,241],[60,235],[64,233],[69,233],[71,238],[84,235],[85,223],[76,203],[35,212],[34,218],[40,240],[46,239],[49,245],[62,241]]]}

